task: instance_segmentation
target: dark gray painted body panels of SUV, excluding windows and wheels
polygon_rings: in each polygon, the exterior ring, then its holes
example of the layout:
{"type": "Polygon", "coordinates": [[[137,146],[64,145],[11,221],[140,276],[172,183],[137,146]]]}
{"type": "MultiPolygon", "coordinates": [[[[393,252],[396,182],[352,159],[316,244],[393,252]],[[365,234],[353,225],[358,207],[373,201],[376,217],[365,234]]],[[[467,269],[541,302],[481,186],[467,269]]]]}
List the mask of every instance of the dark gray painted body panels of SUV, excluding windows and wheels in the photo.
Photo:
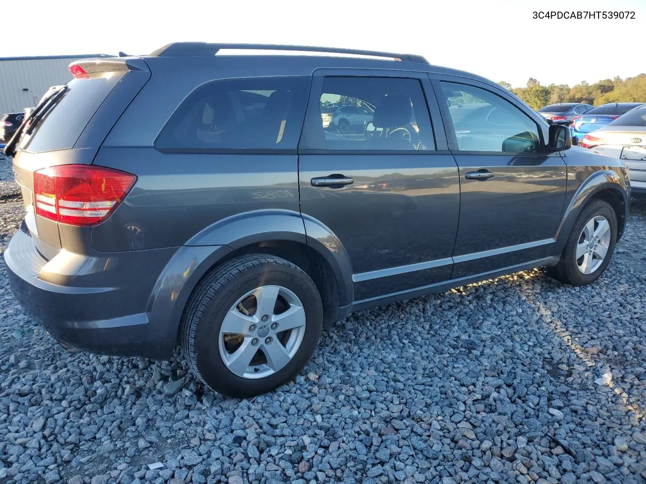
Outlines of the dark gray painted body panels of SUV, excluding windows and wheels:
{"type": "Polygon", "coordinates": [[[432,87],[441,78],[504,97],[534,119],[547,140],[543,117],[481,77],[422,63],[341,57],[123,61],[136,70],[87,126],[83,149],[21,152],[14,159],[26,196],[33,171],[43,166],[96,163],[138,176],[101,225],[56,227],[28,215],[5,252],[21,304],[53,336],[79,347],[169,357],[195,285],[251,244],[256,252],[278,251],[287,258],[298,254],[280,252],[286,244],[311,251],[307,257],[318,254],[317,264],[336,281],[337,294],[326,297],[337,306],[331,314],[343,318],[351,310],[552,265],[593,196],[615,197],[623,228],[629,185],[620,161],[579,148],[522,157],[455,150],[447,136],[452,125],[432,87]],[[153,147],[175,108],[202,83],[312,76],[320,68],[420,79],[437,151],[186,154],[153,147]],[[479,168],[495,177],[465,179],[467,171],[479,168]],[[338,189],[311,186],[311,178],[335,173],[355,183],[338,189]]]}

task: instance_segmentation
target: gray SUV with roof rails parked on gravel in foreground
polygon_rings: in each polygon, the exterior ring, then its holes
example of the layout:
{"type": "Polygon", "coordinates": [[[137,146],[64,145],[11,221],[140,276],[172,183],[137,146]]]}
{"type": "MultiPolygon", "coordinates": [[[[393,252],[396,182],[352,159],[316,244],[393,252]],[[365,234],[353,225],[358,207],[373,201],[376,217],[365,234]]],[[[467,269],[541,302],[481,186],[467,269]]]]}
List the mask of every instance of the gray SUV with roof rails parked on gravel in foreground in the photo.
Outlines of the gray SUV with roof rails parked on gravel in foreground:
{"type": "Polygon", "coordinates": [[[418,55],[174,43],[70,71],[5,148],[11,289],[65,347],[181,345],[227,396],[294,378],[353,311],[542,266],[592,283],[625,227],[620,160],[418,55]],[[326,130],[335,104],[370,129],[326,130]]]}

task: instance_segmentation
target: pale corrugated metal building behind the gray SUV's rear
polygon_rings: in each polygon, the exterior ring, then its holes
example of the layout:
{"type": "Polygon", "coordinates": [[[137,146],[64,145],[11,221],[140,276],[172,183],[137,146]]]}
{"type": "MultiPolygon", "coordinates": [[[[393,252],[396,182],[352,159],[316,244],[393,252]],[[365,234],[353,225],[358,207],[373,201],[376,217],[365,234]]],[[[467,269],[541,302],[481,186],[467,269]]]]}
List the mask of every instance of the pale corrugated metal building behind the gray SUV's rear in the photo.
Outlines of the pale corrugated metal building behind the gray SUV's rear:
{"type": "Polygon", "coordinates": [[[50,86],[72,80],[68,66],[78,59],[105,54],[0,57],[0,116],[36,106],[50,86]]]}

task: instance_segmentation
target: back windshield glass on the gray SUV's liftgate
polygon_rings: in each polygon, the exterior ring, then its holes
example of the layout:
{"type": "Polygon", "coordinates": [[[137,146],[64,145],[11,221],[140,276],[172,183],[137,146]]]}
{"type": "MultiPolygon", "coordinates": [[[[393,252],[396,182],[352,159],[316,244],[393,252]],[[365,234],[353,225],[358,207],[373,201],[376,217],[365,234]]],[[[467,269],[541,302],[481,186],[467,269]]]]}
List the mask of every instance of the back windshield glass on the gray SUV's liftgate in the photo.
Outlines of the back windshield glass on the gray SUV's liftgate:
{"type": "Polygon", "coordinates": [[[38,121],[20,148],[30,152],[66,150],[74,147],[87,123],[125,73],[110,72],[90,79],[73,79],[69,90],[38,121]]]}

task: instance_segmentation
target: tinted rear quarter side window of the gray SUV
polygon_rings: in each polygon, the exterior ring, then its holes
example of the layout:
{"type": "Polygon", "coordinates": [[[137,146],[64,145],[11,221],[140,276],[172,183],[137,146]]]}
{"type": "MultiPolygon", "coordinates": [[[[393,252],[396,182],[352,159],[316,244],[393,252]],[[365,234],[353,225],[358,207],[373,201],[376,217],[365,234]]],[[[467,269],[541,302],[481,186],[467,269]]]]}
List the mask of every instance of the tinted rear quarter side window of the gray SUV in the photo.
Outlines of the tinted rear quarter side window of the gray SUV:
{"type": "Polygon", "coordinates": [[[309,77],[211,81],[172,114],[155,146],[172,152],[295,150],[309,77]]]}

